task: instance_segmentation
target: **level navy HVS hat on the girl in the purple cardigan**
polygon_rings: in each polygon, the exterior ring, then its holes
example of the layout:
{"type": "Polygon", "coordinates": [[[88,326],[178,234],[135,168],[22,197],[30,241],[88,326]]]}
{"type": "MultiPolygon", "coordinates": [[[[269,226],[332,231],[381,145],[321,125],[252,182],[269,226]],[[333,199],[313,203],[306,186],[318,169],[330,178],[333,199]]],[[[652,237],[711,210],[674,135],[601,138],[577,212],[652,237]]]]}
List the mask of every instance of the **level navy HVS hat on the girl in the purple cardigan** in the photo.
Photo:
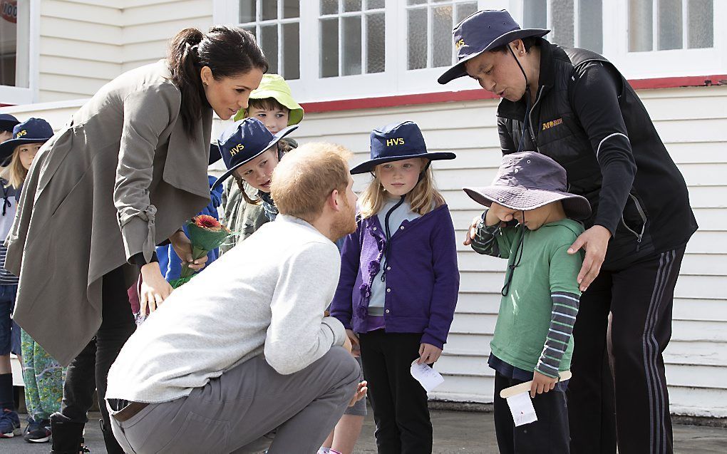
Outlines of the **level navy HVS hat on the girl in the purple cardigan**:
{"type": "Polygon", "coordinates": [[[371,131],[371,159],[351,169],[351,174],[365,174],[373,171],[379,164],[412,158],[438,161],[454,159],[457,155],[446,152],[427,153],[427,145],[417,123],[392,123],[371,131]]]}

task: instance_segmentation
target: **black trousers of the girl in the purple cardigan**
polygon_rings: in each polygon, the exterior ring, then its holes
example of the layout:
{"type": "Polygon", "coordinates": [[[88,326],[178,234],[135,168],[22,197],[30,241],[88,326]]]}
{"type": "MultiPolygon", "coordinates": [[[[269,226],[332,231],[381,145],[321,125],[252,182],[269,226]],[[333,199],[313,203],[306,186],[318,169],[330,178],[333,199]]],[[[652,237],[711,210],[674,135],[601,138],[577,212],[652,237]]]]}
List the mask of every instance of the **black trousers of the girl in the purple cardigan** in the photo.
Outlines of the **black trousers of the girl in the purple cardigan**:
{"type": "Polygon", "coordinates": [[[377,330],[361,334],[359,339],[379,453],[431,453],[427,392],[409,370],[419,357],[422,335],[377,330]]]}

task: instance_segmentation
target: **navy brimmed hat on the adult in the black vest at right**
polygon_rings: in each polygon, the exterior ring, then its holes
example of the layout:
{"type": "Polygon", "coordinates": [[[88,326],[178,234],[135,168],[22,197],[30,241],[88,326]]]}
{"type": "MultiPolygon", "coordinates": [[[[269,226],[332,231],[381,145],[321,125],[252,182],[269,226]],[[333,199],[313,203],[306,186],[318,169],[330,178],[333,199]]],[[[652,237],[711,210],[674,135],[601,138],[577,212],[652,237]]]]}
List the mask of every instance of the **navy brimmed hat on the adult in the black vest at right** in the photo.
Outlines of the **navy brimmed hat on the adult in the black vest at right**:
{"type": "Polygon", "coordinates": [[[535,36],[542,38],[550,33],[545,28],[520,28],[505,9],[485,9],[465,17],[452,30],[454,47],[457,48],[457,63],[446,70],[437,81],[446,84],[456,78],[467,76],[465,62],[483,52],[504,46],[515,39],[535,36]]]}

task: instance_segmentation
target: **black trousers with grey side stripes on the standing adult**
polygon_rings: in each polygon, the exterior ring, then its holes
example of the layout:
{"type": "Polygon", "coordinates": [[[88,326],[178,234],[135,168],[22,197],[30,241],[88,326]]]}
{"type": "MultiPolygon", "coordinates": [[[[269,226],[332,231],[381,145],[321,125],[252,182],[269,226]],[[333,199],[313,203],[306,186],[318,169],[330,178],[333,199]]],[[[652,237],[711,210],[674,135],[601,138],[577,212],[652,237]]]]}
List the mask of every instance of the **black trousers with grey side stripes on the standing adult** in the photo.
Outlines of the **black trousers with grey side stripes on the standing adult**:
{"type": "Polygon", "coordinates": [[[674,288],[686,246],[601,270],[581,296],[568,402],[574,454],[671,454],[662,352],[672,335],[674,288]],[[611,312],[613,370],[606,345],[611,312]]]}

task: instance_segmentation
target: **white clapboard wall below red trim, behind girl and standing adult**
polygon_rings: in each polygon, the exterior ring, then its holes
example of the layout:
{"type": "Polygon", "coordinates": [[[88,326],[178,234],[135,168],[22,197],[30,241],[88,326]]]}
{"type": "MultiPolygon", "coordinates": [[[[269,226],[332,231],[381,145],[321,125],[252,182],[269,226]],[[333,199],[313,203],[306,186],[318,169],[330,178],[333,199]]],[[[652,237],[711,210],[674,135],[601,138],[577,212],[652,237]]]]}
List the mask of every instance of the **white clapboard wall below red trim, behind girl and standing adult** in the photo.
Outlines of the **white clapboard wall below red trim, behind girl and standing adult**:
{"type": "MultiPolygon", "coordinates": [[[[686,178],[700,226],[675,291],[673,336],[665,353],[672,411],[727,416],[727,87],[639,95],[686,178]]],[[[457,153],[454,161],[433,164],[457,229],[461,275],[457,315],[437,365],[446,381],[431,394],[434,399],[492,401],[487,355],[505,262],[461,245],[468,222],[481,212],[461,187],[488,185],[494,177],[501,157],[496,108],[496,101],[477,101],[308,114],[293,136],[299,142],[338,142],[356,153],[352,163],[360,163],[368,156],[372,128],[412,120],[430,151],[457,153]]],[[[358,177],[356,189],[367,181],[358,177]]]]}

